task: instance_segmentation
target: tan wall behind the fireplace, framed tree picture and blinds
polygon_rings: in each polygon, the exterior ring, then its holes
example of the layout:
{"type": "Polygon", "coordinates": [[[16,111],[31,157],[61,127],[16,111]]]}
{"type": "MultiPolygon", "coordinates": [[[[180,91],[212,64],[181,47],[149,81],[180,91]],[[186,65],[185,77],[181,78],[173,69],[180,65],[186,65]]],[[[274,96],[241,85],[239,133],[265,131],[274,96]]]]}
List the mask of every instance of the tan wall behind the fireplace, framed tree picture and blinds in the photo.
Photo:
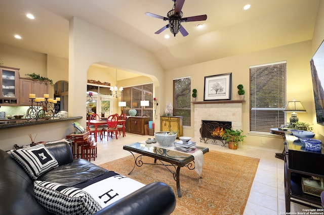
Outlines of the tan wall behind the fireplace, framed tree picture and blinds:
{"type": "MultiPolygon", "coordinates": [[[[287,99],[292,100],[295,97],[296,99],[301,100],[307,112],[299,114],[299,119],[303,122],[312,123],[314,115],[314,98],[312,96],[312,83],[309,66],[310,58],[311,41],[305,41],[292,45],[256,51],[246,55],[238,55],[172,69],[166,73],[165,89],[170,90],[166,90],[165,99],[172,99],[172,80],[175,78],[191,76],[191,88],[197,89],[197,101],[203,101],[205,76],[232,73],[232,99],[239,99],[236,88],[238,84],[243,84],[246,90],[245,99],[247,101],[243,103],[242,113],[242,130],[245,135],[247,135],[244,144],[282,150],[282,138],[269,137],[270,135],[256,136],[249,133],[249,67],[253,65],[287,61],[287,99]],[[261,140],[265,140],[264,145],[261,145],[261,140]]],[[[162,103],[161,105],[165,106],[166,103],[162,103]]],[[[184,136],[192,137],[194,130],[199,129],[193,127],[193,104],[191,115],[191,127],[184,128],[184,136]]]]}

